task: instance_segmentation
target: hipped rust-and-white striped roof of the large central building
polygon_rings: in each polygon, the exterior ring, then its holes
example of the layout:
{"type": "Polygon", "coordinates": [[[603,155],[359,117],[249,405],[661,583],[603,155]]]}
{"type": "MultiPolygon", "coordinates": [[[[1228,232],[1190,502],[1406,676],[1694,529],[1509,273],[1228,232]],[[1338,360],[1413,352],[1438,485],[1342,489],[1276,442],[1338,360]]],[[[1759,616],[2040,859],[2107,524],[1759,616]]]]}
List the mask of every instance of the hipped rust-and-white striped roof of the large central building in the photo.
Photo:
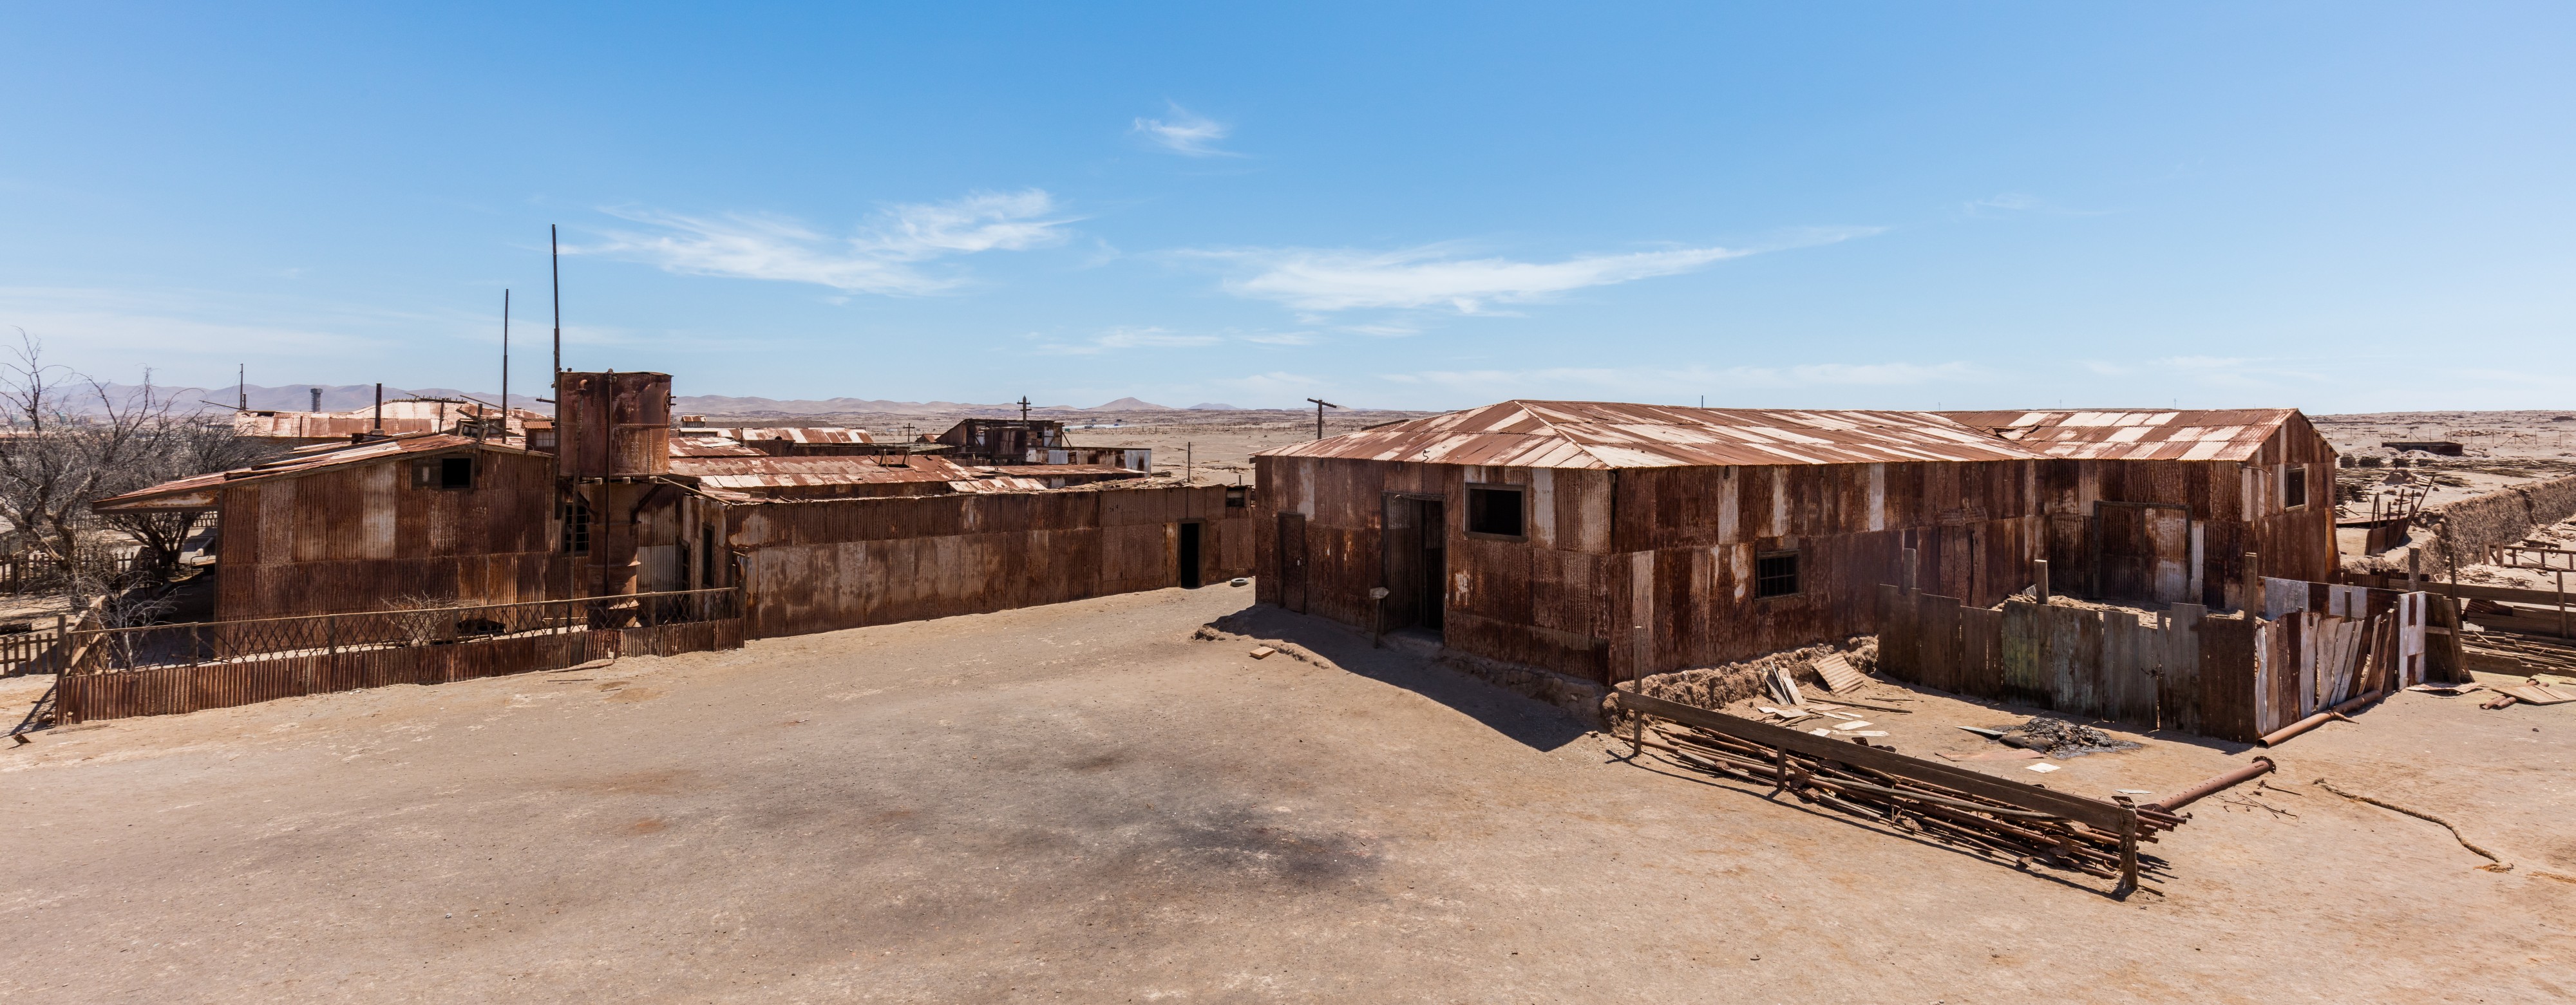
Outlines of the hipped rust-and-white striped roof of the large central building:
{"type": "Polygon", "coordinates": [[[1726,466],[2027,461],[2035,454],[1935,412],[1499,402],[1257,456],[1492,466],[1726,466]]]}

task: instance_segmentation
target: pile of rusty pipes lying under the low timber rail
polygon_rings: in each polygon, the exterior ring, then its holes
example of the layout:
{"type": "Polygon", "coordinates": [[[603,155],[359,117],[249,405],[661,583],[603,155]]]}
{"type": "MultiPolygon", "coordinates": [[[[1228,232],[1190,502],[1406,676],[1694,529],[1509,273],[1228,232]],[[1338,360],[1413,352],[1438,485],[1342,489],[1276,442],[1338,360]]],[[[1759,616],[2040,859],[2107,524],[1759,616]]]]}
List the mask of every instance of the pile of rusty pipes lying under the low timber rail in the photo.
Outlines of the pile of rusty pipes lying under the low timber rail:
{"type": "MultiPolygon", "coordinates": [[[[1999,799],[1919,778],[1899,778],[1842,760],[1765,747],[1685,724],[1651,724],[1633,742],[1659,750],[1667,763],[1695,773],[1770,783],[1775,794],[1790,791],[1811,804],[1978,853],[2004,856],[2020,866],[2045,863],[2087,876],[2120,876],[2120,835],[2045,812],[2009,807],[1999,799]]],[[[2138,812],[2138,840],[2156,840],[2156,832],[2174,830],[2184,819],[2161,807],[2133,809],[2138,812]]]]}

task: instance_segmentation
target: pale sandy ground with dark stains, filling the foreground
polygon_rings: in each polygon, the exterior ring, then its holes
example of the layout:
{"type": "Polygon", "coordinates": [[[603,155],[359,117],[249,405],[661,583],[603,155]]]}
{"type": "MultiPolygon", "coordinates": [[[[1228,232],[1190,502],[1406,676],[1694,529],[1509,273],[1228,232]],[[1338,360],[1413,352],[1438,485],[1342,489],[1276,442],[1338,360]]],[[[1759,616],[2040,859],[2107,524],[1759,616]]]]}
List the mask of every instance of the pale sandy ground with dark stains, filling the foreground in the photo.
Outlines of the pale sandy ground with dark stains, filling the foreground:
{"type": "MultiPolygon", "coordinates": [[[[2195,807],[2166,894],[1628,763],[1247,588],[41,732],[0,995],[247,1000],[2540,1002],[2576,706],[2401,696],[2195,807]],[[1309,655],[1301,660],[1301,655],[1309,655]],[[2452,819],[2517,863],[2311,781],[2452,819]],[[2269,807],[2269,809],[2264,809],[2269,807]]],[[[28,701],[36,680],[0,680],[28,701]]],[[[1899,691],[1875,685],[1883,698],[1899,691]]],[[[2009,709],[1922,696],[1899,750],[2009,709]]],[[[2143,737],[2048,786],[2244,763],[2143,737]]],[[[2017,763],[1986,770],[2022,776],[2017,763]]]]}

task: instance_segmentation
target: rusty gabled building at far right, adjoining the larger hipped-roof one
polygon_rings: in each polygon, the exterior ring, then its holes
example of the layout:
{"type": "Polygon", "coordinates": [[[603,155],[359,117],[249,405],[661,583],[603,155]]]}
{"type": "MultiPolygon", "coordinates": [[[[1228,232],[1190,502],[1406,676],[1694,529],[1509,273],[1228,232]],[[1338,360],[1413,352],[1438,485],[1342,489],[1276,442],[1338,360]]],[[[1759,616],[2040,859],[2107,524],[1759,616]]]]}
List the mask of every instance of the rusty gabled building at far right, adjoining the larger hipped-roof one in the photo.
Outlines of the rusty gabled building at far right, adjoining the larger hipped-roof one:
{"type": "Polygon", "coordinates": [[[1942,412],[2040,454],[2050,577],[2112,600],[2241,608],[2259,575],[2334,580],[2334,446],[2269,410],[1942,412]]]}

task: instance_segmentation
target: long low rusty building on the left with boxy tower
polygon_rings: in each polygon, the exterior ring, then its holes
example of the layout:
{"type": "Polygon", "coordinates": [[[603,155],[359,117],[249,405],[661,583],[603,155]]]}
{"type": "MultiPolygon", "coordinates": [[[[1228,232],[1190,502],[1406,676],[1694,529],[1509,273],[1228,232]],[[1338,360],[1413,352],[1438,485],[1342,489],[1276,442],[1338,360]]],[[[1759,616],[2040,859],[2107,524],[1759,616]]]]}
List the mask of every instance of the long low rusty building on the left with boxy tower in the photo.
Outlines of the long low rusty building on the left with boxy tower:
{"type": "Polygon", "coordinates": [[[559,433],[559,456],[443,433],[330,441],[98,510],[214,510],[224,621],[747,585],[757,631],[786,634],[1252,572],[1239,490],[1097,464],[773,456],[675,436],[667,374],[567,371],[556,402],[559,423],[528,425],[559,433]]]}

